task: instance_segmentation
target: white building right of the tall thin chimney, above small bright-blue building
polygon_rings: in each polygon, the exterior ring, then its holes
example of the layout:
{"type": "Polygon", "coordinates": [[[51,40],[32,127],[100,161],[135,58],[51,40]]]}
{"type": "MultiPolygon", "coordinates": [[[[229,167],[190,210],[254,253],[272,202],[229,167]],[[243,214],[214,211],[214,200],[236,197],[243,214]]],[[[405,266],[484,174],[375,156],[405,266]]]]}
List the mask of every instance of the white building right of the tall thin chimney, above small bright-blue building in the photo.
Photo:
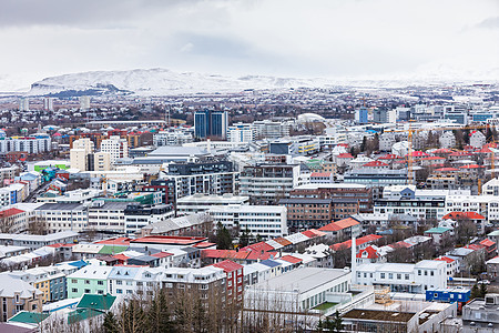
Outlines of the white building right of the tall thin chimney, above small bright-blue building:
{"type": "Polygon", "coordinates": [[[425,293],[447,287],[447,264],[422,260],[416,264],[368,263],[356,268],[353,284],[389,286],[393,292],[425,293]]]}

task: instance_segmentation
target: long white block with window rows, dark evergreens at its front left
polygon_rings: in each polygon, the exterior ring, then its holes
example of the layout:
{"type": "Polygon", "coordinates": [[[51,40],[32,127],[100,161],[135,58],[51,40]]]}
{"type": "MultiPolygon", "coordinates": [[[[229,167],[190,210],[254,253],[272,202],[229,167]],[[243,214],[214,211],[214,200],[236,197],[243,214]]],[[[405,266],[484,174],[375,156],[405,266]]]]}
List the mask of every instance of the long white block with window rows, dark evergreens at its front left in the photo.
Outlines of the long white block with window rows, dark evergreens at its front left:
{"type": "Polygon", "coordinates": [[[207,213],[215,225],[221,222],[225,228],[238,226],[241,231],[247,228],[253,236],[287,235],[287,209],[284,205],[216,205],[207,213]]]}

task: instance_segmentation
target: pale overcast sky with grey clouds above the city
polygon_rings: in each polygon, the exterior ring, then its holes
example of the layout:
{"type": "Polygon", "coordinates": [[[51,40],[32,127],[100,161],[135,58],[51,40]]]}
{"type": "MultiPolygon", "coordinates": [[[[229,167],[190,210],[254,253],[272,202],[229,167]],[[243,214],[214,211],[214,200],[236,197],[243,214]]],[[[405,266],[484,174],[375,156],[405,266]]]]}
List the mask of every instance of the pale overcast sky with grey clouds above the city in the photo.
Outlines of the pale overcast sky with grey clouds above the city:
{"type": "Polygon", "coordinates": [[[1,0],[0,42],[0,79],[475,75],[499,68],[499,0],[1,0]]]}

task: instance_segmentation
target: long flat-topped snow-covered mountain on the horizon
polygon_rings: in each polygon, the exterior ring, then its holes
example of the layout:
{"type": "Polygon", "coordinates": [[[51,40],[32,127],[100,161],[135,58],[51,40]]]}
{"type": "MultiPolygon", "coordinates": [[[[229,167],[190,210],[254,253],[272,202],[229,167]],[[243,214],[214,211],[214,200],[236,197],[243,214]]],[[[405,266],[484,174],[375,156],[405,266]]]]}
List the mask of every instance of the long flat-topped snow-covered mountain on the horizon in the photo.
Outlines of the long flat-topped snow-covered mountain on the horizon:
{"type": "Polygon", "coordinates": [[[324,87],[324,79],[293,79],[247,75],[240,78],[173,72],[166,69],[95,71],[47,78],[31,85],[29,95],[64,91],[134,93],[165,95],[183,93],[238,92],[246,89],[324,87]]]}

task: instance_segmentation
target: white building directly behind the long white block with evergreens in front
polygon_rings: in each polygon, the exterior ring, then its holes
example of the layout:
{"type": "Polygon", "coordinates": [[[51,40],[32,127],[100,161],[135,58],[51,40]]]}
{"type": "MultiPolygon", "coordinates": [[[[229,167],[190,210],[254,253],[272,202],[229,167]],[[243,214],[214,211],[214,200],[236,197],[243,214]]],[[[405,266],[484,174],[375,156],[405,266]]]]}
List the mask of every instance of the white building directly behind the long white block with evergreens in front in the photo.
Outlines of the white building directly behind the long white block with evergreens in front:
{"type": "Polygon", "coordinates": [[[214,205],[249,204],[249,196],[240,196],[232,193],[194,194],[176,200],[177,216],[205,212],[214,205]]]}

